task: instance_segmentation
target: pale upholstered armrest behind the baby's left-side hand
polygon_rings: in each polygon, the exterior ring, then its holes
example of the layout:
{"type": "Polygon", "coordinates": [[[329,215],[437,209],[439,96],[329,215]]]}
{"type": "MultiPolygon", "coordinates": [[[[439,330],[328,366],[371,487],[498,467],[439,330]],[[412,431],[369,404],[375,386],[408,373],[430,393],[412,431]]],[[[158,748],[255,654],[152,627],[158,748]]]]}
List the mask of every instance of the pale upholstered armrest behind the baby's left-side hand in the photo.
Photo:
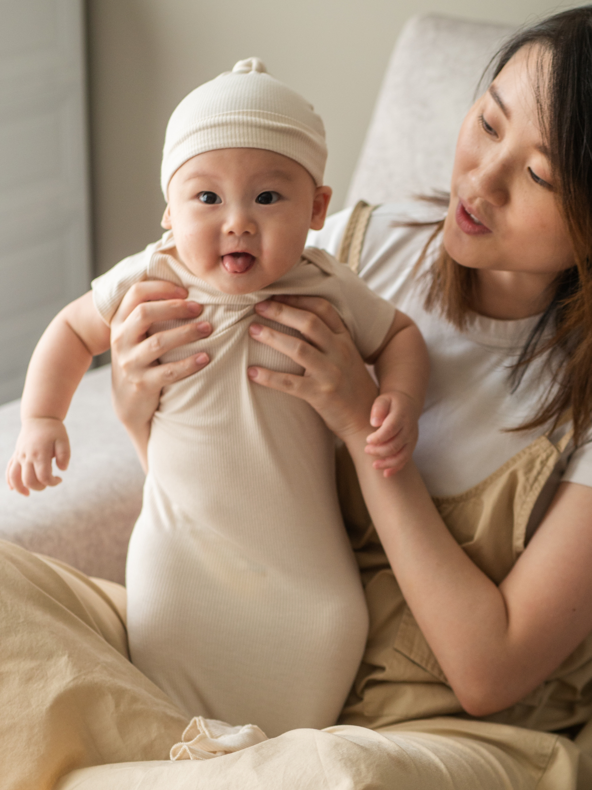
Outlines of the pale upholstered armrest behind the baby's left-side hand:
{"type": "MultiPolygon", "coordinates": [[[[0,466],[13,453],[20,401],[0,406],[0,466]]],[[[63,482],[23,497],[0,483],[0,538],[123,583],[144,472],[111,408],[111,367],[86,374],[66,417],[72,457],[63,482]]]]}

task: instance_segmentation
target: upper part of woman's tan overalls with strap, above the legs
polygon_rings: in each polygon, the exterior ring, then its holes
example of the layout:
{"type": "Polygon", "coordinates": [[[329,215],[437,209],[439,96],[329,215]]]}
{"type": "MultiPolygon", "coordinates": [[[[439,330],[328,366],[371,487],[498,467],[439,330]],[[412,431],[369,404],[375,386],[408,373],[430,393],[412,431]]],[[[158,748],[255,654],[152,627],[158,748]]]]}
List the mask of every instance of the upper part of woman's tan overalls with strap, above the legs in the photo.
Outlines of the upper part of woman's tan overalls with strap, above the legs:
{"type": "MultiPolygon", "coordinates": [[[[339,260],[354,271],[358,269],[372,209],[363,203],[356,206],[339,250],[339,260]]],[[[496,584],[508,575],[524,551],[530,514],[571,435],[570,430],[557,446],[546,434],[542,435],[463,494],[434,499],[455,540],[496,584]]],[[[403,598],[344,448],[338,450],[337,480],[343,517],[362,572],[370,613],[369,640],[340,719],[343,724],[383,731],[389,725],[400,728],[406,722],[407,730],[410,720],[454,716],[462,717],[449,720],[454,721],[454,728],[461,726],[468,732],[489,722],[529,728],[509,730],[511,745],[515,747],[521,740],[532,740],[532,735],[534,742],[540,741],[540,736],[549,738],[531,730],[560,731],[592,718],[592,634],[553,675],[511,708],[478,720],[464,713],[403,598]]],[[[446,728],[444,724],[439,726],[446,728]]],[[[592,723],[579,732],[576,743],[583,748],[587,745],[592,754],[592,723]]],[[[589,782],[581,786],[592,788],[592,773],[589,782]]],[[[568,786],[567,780],[566,784],[557,785],[568,786]]]]}

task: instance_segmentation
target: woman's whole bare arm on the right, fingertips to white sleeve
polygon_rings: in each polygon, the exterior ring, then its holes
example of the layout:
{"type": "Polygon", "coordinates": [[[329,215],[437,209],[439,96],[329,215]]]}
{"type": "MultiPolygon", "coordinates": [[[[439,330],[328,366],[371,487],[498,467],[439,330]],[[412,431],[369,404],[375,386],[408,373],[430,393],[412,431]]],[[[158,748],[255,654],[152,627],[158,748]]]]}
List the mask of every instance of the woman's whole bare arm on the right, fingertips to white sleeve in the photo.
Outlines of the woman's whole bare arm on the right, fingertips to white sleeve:
{"type": "Polygon", "coordinates": [[[256,368],[251,378],[308,401],[346,442],[403,596],[463,708],[485,716],[518,702],[592,630],[592,488],[562,483],[526,551],[495,585],[448,532],[412,463],[388,479],[372,468],[365,443],[373,394],[353,344],[326,303],[319,310],[310,299],[289,301],[257,310],[311,344],[268,328],[253,337],[305,374],[256,368]]]}

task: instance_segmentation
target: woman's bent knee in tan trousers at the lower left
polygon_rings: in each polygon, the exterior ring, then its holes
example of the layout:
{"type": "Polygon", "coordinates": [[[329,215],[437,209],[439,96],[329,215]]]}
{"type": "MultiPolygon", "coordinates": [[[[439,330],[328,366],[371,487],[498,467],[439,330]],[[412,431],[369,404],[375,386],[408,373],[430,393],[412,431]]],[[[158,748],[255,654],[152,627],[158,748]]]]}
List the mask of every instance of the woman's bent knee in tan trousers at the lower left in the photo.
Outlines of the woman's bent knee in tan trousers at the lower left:
{"type": "Polygon", "coordinates": [[[73,769],[167,760],[187,718],[127,657],[110,598],[84,574],[0,541],[2,790],[73,769]]]}

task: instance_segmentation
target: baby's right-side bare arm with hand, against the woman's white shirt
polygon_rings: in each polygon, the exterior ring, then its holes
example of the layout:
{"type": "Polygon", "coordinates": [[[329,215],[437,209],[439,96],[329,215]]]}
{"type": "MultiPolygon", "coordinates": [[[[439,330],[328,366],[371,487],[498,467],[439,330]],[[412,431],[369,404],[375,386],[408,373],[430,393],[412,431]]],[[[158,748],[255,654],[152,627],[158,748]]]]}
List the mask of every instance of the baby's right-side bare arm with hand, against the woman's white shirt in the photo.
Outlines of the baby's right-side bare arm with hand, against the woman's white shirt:
{"type": "Polygon", "coordinates": [[[397,311],[391,329],[373,359],[380,383],[370,423],[378,430],[368,437],[366,452],[377,456],[374,468],[388,477],[409,461],[418,440],[429,378],[429,357],[422,333],[397,311]]]}

